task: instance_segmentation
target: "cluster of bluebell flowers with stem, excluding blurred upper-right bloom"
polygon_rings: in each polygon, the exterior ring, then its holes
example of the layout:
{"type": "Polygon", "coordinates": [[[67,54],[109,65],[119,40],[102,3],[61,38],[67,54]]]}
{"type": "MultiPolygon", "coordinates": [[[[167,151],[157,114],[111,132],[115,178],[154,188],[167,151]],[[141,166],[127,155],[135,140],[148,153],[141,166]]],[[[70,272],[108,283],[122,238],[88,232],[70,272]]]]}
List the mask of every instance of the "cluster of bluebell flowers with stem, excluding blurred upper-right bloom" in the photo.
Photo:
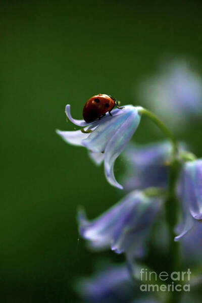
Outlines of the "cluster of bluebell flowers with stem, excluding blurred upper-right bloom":
{"type": "Polygon", "coordinates": [[[111,249],[117,254],[123,253],[127,264],[120,268],[111,267],[93,280],[80,281],[79,291],[92,302],[119,302],[122,295],[123,301],[128,296],[127,301],[132,302],[134,289],[131,288],[130,278],[136,279],[137,259],[142,259],[145,254],[151,226],[159,214],[164,218],[164,212],[161,212],[163,206],[167,212],[165,221],[170,235],[173,236],[174,229],[178,231],[178,235],[172,239],[174,244],[181,240],[185,247],[190,232],[197,238],[202,231],[202,160],[188,153],[184,143],[177,144],[163,123],[140,107],[127,105],[113,109],[111,114],[90,123],[73,119],[70,105],[66,106],[66,114],[71,122],[82,129],[57,130],[57,133],[70,144],[86,147],[95,164],[104,162],[108,182],[128,191],[117,204],[94,220],[88,220],[83,209],[78,212],[79,232],[87,240],[90,249],[111,249]],[[129,143],[142,114],[156,121],[170,141],[143,146],[129,143]],[[122,177],[123,186],[114,175],[115,161],[122,152],[123,159],[129,164],[122,177]],[[176,212],[177,207],[173,203],[177,203],[177,197],[182,222],[172,221],[170,224],[168,214],[172,207],[176,212]],[[168,204],[171,204],[169,209],[168,204]],[[180,224],[176,226],[177,223],[180,224]]]}

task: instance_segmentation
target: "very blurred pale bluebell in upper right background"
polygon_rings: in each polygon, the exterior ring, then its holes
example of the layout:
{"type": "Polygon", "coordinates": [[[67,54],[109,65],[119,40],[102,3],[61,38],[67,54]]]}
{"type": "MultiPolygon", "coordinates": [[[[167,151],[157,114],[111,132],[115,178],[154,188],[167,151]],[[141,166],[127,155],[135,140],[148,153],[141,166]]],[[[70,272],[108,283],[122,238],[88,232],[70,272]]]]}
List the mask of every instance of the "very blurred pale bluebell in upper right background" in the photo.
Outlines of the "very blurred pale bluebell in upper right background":
{"type": "Polygon", "coordinates": [[[163,62],[156,75],[142,81],[138,94],[175,131],[202,112],[202,79],[185,60],[163,62]]]}

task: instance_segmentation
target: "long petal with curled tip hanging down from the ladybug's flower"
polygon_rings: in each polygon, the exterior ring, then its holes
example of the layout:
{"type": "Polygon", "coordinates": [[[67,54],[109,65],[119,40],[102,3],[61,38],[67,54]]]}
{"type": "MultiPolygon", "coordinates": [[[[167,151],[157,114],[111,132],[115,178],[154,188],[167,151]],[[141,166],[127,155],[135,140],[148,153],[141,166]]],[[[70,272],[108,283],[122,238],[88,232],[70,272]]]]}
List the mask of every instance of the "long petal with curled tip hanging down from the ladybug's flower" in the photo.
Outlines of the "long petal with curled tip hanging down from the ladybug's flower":
{"type": "Polygon", "coordinates": [[[125,145],[128,143],[133,133],[137,129],[140,122],[140,115],[136,108],[125,117],[125,121],[118,128],[114,136],[111,138],[105,149],[105,175],[108,182],[113,186],[123,189],[114,176],[114,163],[117,157],[121,154],[125,145]]]}

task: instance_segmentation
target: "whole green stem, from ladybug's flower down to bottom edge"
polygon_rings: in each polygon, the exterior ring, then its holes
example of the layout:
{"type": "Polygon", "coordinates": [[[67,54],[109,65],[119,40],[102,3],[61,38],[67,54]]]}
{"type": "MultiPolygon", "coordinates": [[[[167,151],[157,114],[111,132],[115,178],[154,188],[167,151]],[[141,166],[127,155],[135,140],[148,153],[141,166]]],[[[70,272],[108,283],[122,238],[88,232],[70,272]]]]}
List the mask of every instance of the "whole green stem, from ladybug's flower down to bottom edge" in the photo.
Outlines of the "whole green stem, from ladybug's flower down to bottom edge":
{"type": "MultiPolygon", "coordinates": [[[[172,272],[178,271],[180,269],[179,243],[174,242],[174,230],[178,220],[178,201],[176,197],[176,184],[180,171],[178,144],[176,138],[158,117],[156,117],[153,113],[147,111],[142,107],[138,108],[138,112],[151,119],[161,129],[161,131],[166,135],[166,137],[171,141],[172,144],[172,159],[169,165],[169,183],[165,202],[166,223],[168,226],[169,235],[169,248],[167,259],[171,274],[172,272]]],[[[166,303],[178,303],[179,300],[180,292],[175,291],[170,293],[170,295],[166,298],[166,303]]]]}

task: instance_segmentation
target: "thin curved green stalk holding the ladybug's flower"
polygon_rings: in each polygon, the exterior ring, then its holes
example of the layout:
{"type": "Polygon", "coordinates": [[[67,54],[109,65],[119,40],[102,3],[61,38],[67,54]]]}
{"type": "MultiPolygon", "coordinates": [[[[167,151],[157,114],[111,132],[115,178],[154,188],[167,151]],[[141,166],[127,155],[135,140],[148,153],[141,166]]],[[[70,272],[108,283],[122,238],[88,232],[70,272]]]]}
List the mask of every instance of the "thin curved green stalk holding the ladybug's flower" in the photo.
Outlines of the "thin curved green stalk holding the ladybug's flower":
{"type": "Polygon", "coordinates": [[[178,151],[177,140],[175,139],[173,134],[170,132],[170,130],[165,126],[165,124],[153,113],[149,112],[148,110],[146,110],[142,107],[138,107],[138,113],[147,116],[150,120],[152,120],[161,129],[161,131],[171,141],[171,144],[173,146],[173,155],[176,155],[177,151],[178,151]]]}

